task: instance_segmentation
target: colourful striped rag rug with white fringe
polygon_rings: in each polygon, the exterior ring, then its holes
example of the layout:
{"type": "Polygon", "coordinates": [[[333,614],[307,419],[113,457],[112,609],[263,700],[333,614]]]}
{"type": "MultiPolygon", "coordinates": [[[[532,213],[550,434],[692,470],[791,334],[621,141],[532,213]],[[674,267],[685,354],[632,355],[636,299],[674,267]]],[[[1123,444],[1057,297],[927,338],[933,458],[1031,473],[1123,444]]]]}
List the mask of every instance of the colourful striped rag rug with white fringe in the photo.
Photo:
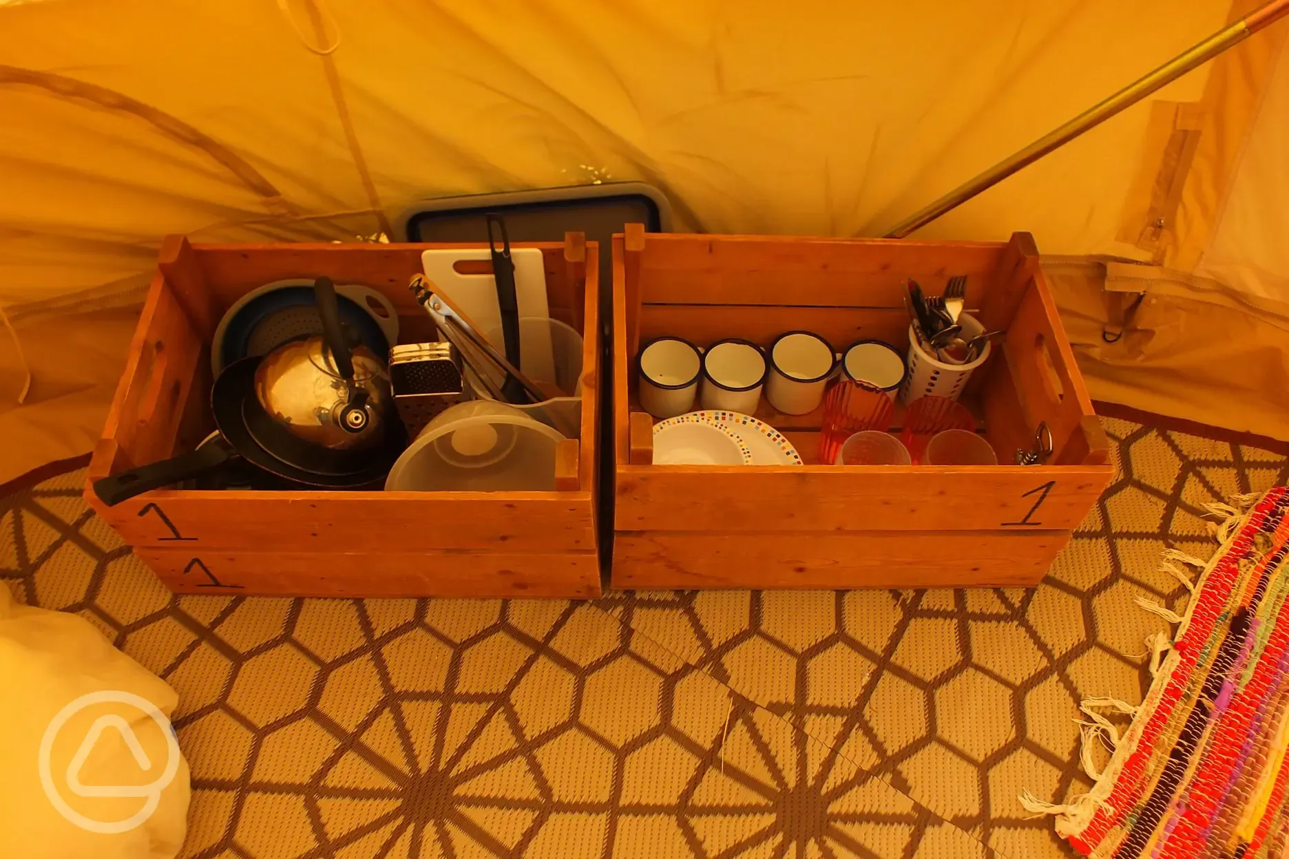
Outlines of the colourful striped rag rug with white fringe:
{"type": "Polygon", "coordinates": [[[1203,568],[1185,617],[1142,603],[1179,623],[1174,641],[1160,634],[1152,647],[1146,699],[1083,702],[1084,755],[1100,733],[1116,741],[1105,771],[1069,805],[1022,796],[1030,810],[1057,814],[1057,832],[1085,855],[1289,855],[1289,489],[1271,489],[1249,513],[1212,509],[1228,516],[1213,559],[1165,555],[1183,581],[1170,562],[1203,568]],[[1134,713],[1123,737],[1106,708],[1134,713]]]}

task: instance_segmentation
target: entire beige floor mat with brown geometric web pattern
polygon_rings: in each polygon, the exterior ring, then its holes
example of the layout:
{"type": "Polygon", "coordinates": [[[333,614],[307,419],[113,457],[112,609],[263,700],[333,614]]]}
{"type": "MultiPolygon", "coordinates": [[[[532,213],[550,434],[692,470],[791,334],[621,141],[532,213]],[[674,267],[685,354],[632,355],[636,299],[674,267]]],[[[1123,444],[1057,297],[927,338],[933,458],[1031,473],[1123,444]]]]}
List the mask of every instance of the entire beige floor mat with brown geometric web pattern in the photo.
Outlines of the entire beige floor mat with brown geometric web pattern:
{"type": "MultiPolygon", "coordinates": [[[[80,498],[0,498],[0,581],[179,694],[182,856],[1070,856],[1078,704],[1137,703],[1185,610],[1165,549],[1289,480],[1248,446],[1103,419],[1118,474],[1036,589],[175,596],[80,498]]],[[[1105,759],[1097,761],[1098,766],[1105,759]]]]}

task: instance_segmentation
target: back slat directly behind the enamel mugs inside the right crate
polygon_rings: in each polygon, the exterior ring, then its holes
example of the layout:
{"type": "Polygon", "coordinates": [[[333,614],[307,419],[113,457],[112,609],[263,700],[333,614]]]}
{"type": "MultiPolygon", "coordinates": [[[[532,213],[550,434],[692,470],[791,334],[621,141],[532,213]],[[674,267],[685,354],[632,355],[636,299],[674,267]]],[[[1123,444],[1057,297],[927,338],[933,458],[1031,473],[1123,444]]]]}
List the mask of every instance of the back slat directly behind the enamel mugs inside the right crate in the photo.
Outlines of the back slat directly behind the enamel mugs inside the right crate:
{"type": "Polygon", "coordinates": [[[670,335],[704,348],[726,337],[768,346],[785,331],[813,331],[838,352],[856,340],[882,340],[900,352],[909,349],[909,314],[904,308],[646,304],[639,318],[641,343],[670,335]]]}

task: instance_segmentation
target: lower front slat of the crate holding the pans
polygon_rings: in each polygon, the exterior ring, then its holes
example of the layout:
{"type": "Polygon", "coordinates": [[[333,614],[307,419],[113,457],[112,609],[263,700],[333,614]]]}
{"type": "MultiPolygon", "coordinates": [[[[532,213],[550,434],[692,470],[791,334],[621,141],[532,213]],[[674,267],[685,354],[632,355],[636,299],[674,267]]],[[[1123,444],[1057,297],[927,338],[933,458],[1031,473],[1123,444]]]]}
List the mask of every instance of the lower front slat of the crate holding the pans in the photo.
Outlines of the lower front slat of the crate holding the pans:
{"type": "Polygon", "coordinates": [[[599,596],[596,552],[291,552],[139,549],[179,594],[231,596],[599,596]]]}

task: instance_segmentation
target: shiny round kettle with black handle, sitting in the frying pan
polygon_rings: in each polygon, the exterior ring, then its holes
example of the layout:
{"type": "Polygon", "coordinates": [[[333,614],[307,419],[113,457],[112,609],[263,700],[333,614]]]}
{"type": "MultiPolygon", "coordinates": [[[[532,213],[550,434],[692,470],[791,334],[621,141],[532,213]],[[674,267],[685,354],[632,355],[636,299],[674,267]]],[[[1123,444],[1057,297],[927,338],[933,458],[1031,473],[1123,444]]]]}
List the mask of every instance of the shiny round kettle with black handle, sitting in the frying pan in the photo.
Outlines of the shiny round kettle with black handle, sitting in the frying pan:
{"type": "Polygon", "coordinates": [[[345,340],[331,279],[317,278],[313,291],[322,335],[266,355],[255,370],[255,398],[277,424],[320,448],[375,447],[389,425],[389,370],[370,349],[345,340]]]}

